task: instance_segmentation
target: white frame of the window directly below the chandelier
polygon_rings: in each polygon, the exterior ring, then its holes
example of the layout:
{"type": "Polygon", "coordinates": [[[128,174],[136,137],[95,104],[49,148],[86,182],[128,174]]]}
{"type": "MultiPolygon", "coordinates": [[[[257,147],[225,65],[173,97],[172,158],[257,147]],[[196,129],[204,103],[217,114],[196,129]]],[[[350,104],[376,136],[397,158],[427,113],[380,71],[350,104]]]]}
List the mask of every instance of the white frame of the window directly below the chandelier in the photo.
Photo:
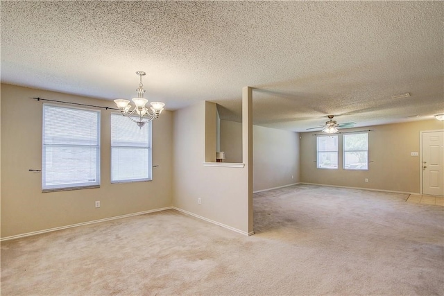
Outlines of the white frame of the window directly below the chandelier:
{"type": "MultiPolygon", "coordinates": [[[[116,183],[130,183],[130,182],[150,182],[153,180],[153,128],[152,128],[152,121],[149,121],[148,123],[145,123],[145,125],[142,128],[148,129],[148,146],[128,146],[128,145],[113,145],[112,141],[112,118],[113,116],[121,117],[128,121],[129,123],[133,124],[135,128],[139,129],[139,127],[133,122],[130,121],[130,119],[125,118],[122,116],[121,113],[112,112],[110,114],[110,182],[112,184],[116,183]],[[147,150],[148,153],[148,164],[147,164],[147,177],[141,177],[141,178],[128,178],[128,179],[115,179],[114,180],[114,162],[113,162],[113,156],[114,156],[114,148],[120,148],[120,149],[144,149],[147,150]]],[[[138,119],[138,117],[133,117],[134,119],[138,119]]]]}

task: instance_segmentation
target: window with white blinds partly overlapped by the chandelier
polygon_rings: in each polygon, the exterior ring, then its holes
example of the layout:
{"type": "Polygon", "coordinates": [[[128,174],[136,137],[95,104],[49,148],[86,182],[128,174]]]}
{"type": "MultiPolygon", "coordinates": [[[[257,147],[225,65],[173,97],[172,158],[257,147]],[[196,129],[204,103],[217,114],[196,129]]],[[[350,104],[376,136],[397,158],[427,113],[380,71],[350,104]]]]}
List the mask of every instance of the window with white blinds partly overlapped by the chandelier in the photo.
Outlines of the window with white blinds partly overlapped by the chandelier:
{"type": "Polygon", "coordinates": [[[111,182],[151,180],[151,122],[143,128],[111,114],[111,182]]]}

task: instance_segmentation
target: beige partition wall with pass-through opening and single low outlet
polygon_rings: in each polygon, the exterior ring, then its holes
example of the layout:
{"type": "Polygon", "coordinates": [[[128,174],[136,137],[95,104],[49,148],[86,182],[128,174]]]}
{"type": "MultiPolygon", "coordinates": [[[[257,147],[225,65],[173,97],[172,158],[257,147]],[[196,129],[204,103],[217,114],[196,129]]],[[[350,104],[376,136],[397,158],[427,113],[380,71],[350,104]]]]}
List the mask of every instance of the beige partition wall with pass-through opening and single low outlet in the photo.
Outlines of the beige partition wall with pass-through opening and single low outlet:
{"type": "MultiPolygon", "coordinates": [[[[215,104],[200,102],[174,114],[174,197],[179,209],[248,234],[248,170],[204,166],[205,147],[216,140],[215,104]],[[213,106],[213,105],[214,106],[213,106]],[[207,112],[212,110],[214,112],[207,112]],[[206,137],[205,137],[206,135],[206,137]],[[198,204],[198,198],[201,204],[198,204]]],[[[215,149],[210,146],[211,149],[215,149]]],[[[214,150],[215,151],[215,150],[214,150]]]]}

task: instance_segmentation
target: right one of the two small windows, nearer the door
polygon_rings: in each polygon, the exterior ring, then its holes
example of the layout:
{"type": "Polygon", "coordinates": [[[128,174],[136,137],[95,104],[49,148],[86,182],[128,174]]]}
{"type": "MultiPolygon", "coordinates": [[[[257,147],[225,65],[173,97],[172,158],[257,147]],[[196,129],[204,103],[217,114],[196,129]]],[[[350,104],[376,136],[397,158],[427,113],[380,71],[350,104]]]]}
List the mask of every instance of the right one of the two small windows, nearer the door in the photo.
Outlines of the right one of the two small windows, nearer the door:
{"type": "Polygon", "coordinates": [[[368,133],[344,134],[344,168],[368,170],[368,133]]]}

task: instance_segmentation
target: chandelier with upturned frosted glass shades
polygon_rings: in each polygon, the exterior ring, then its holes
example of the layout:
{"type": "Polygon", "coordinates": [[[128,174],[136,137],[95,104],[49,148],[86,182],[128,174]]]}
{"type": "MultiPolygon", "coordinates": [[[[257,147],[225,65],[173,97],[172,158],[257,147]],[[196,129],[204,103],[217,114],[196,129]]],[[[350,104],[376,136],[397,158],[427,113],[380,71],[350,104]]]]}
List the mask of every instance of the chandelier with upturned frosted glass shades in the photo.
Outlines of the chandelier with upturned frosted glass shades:
{"type": "Polygon", "coordinates": [[[135,103],[134,109],[131,110],[132,106],[129,105],[130,101],[128,100],[117,99],[114,100],[114,103],[116,103],[123,116],[128,117],[128,119],[137,123],[139,128],[142,128],[145,123],[159,118],[160,113],[164,110],[165,104],[162,102],[151,102],[151,107],[149,109],[145,107],[148,100],[144,98],[145,89],[142,84],[142,76],[145,76],[146,73],[144,71],[137,71],[136,74],[140,76],[140,82],[139,87],[136,89],[137,98],[133,98],[133,102],[135,103]]]}

